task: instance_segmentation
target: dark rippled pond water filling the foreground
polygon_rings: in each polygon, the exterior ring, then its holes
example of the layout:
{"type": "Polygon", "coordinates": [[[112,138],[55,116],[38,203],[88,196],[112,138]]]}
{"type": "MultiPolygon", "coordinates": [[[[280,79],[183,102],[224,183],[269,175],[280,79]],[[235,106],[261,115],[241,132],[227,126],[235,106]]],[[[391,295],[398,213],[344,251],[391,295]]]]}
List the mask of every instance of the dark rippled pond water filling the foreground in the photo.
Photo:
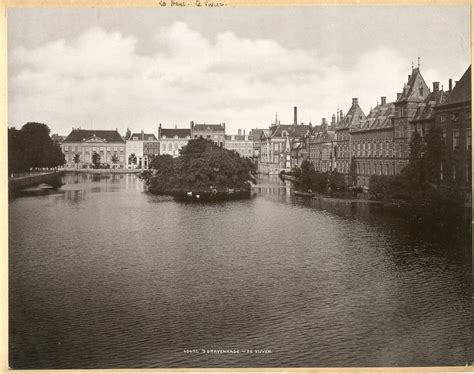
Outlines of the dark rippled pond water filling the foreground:
{"type": "Polygon", "coordinates": [[[64,183],[9,204],[12,368],[472,363],[460,238],[275,180],[215,204],[134,175],[64,183]]]}

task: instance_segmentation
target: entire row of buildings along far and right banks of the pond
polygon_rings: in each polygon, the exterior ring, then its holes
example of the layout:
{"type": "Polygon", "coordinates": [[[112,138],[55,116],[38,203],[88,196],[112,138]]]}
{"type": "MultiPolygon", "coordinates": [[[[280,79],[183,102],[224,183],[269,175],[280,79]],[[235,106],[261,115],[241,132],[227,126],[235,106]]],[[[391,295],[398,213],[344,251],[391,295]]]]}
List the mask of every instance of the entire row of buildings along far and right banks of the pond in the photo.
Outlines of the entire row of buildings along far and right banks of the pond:
{"type": "Polygon", "coordinates": [[[247,135],[227,135],[225,123],[198,124],[188,128],[164,128],[157,134],[73,129],[61,141],[67,166],[90,165],[98,153],[102,163],[118,167],[146,168],[154,155],[179,155],[190,139],[202,137],[234,150],[258,164],[264,174],[290,171],[310,161],[317,171],[337,171],[356,176],[357,184],[368,186],[371,175],[395,175],[408,164],[409,142],[414,132],[425,136],[430,128],[442,130],[446,155],[440,167],[441,179],[470,183],[471,180],[471,67],[448,90],[433,82],[430,88],[420,68],[412,68],[396,99],[380,103],[366,114],[357,98],[349,110],[338,110],[331,121],[320,125],[298,123],[297,108],[291,124],[278,118],[266,129],[247,135]],[[78,156],[77,156],[78,155],[78,156]]]}

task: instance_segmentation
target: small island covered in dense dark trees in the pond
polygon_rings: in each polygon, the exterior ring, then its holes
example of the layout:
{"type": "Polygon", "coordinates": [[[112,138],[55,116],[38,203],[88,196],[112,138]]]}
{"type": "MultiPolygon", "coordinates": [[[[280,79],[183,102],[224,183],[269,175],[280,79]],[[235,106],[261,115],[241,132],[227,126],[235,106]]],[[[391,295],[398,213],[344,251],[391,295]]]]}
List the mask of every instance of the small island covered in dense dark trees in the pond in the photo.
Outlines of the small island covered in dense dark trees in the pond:
{"type": "Polygon", "coordinates": [[[255,175],[249,158],[199,138],[190,140],[177,158],[156,156],[140,177],[150,193],[205,201],[250,197],[255,175]]]}

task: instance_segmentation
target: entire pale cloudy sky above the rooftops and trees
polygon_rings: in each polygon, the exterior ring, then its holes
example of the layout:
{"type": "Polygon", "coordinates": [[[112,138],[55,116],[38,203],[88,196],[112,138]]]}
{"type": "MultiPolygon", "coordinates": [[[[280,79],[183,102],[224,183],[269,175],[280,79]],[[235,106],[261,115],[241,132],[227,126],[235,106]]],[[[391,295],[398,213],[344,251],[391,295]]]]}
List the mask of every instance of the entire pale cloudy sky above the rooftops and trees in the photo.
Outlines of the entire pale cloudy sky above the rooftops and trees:
{"type": "Polygon", "coordinates": [[[471,60],[469,6],[9,9],[9,126],[157,131],[319,124],[471,60]]]}

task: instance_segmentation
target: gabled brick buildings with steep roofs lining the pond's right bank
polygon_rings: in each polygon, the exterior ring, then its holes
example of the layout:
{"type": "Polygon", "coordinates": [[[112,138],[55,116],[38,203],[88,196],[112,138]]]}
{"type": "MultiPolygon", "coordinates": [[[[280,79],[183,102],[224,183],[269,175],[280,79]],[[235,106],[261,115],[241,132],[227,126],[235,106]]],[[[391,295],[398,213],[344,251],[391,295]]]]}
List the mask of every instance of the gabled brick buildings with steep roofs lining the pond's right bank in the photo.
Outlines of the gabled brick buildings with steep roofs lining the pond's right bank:
{"type": "Polygon", "coordinates": [[[470,185],[471,181],[471,67],[444,91],[439,82],[428,87],[420,68],[412,68],[396,100],[380,103],[368,114],[357,98],[344,114],[333,114],[318,126],[298,124],[294,109],[292,124],[275,119],[263,131],[259,171],[278,173],[309,160],[317,171],[355,175],[359,186],[368,186],[371,175],[398,174],[409,161],[410,139],[422,138],[430,128],[440,128],[446,154],[440,177],[470,185]]]}

